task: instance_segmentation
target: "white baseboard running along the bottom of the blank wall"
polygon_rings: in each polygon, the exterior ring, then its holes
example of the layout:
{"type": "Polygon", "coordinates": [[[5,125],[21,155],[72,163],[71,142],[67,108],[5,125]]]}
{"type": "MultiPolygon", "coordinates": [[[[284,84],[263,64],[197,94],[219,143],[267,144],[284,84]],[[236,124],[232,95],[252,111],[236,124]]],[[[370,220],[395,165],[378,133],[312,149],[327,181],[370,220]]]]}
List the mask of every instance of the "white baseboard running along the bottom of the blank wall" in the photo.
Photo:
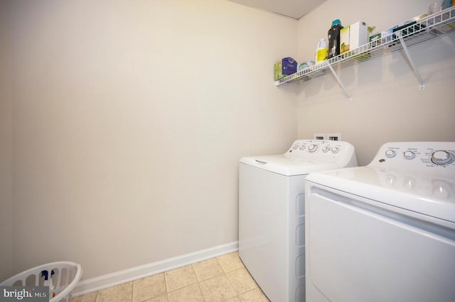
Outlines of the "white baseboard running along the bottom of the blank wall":
{"type": "Polygon", "coordinates": [[[158,262],[140,265],[139,267],[132,267],[130,269],[124,269],[119,272],[85,279],[77,284],[73,291],[73,296],[82,296],[87,293],[100,291],[101,289],[107,289],[111,286],[116,286],[129,281],[145,278],[146,276],[152,276],[154,274],[166,272],[178,267],[184,267],[186,265],[200,262],[206,259],[225,255],[230,252],[236,252],[238,250],[238,247],[239,244],[237,241],[230,242],[226,243],[225,245],[218,245],[216,247],[210,247],[205,250],[164,259],[158,262]]]}

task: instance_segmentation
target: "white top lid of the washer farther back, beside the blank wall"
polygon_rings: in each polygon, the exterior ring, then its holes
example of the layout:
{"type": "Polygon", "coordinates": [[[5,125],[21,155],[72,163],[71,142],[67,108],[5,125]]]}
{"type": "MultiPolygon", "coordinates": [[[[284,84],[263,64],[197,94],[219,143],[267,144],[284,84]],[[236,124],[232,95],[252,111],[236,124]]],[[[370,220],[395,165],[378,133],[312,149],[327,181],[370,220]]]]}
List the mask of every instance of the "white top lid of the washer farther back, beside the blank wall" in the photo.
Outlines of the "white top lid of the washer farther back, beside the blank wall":
{"type": "Polygon", "coordinates": [[[333,162],[296,160],[284,155],[242,157],[240,162],[284,176],[305,175],[310,172],[340,168],[338,164],[333,162]]]}

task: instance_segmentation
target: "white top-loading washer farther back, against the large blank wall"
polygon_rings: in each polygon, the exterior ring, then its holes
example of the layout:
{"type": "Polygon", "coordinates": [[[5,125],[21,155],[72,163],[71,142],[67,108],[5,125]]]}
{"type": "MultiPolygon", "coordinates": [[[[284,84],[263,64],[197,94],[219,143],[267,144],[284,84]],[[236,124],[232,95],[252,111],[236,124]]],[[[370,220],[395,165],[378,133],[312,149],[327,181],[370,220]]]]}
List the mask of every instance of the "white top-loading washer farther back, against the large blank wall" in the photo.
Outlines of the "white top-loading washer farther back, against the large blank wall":
{"type": "Polygon", "coordinates": [[[239,255],[272,302],[305,299],[306,174],[356,165],[353,145],[328,140],[240,160],[239,255]]]}

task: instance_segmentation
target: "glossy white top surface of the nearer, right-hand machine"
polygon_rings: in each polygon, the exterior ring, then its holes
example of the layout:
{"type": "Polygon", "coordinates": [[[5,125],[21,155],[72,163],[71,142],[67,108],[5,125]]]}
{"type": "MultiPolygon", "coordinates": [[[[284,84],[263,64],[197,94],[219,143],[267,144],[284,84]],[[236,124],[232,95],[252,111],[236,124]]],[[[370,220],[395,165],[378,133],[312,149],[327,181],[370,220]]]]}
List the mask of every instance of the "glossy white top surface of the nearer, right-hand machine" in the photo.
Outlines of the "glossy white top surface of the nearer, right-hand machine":
{"type": "Polygon", "coordinates": [[[306,181],[455,223],[450,175],[366,166],[315,172],[306,181]]]}

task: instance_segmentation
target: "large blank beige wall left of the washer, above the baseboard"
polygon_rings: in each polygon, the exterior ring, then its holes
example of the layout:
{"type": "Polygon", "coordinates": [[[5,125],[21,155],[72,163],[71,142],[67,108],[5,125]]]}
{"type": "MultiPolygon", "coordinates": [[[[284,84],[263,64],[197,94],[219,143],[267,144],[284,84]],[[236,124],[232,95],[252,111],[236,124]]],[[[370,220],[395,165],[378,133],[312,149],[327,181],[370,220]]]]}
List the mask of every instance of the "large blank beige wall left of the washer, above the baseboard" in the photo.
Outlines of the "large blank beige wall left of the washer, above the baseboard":
{"type": "MultiPolygon", "coordinates": [[[[14,1],[15,271],[237,240],[240,157],[296,138],[296,21],[230,1],[14,1]]],[[[3,113],[2,113],[3,114],[3,113]]]]}

